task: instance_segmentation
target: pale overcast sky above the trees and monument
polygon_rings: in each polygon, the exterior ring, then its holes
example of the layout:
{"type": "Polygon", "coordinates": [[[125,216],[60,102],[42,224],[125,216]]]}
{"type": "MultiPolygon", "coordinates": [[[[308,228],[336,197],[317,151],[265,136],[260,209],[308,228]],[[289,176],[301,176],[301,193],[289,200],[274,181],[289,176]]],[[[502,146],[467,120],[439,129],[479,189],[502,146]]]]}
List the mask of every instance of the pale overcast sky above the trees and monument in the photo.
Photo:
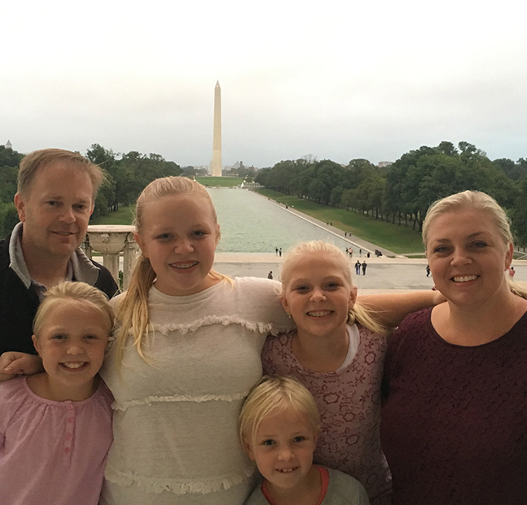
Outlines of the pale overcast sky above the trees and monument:
{"type": "Polygon", "coordinates": [[[0,144],[93,143],[181,166],[394,161],[473,143],[527,157],[526,2],[10,0],[0,144]]]}

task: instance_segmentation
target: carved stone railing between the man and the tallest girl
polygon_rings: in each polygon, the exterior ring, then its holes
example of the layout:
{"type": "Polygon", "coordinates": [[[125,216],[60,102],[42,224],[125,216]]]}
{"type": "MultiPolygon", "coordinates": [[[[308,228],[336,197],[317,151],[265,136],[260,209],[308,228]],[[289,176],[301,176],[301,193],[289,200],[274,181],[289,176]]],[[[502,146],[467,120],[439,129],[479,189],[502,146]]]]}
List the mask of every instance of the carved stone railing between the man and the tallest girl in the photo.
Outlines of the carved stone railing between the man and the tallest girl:
{"type": "Polygon", "coordinates": [[[134,226],[131,225],[89,225],[86,242],[81,247],[90,258],[100,253],[103,265],[110,270],[119,284],[119,270],[123,273],[123,290],[130,283],[134,261],[139,247],[134,240],[134,226]],[[121,258],[122,254],[122,258],[121,258]]]}

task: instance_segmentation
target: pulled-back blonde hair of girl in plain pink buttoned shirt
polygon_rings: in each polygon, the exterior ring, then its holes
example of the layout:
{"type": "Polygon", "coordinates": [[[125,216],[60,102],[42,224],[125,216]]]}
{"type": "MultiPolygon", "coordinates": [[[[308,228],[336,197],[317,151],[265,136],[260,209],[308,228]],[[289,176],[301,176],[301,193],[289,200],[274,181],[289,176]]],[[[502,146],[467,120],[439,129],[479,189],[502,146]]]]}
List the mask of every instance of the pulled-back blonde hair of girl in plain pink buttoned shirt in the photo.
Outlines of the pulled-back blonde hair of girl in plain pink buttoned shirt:
{"type": "Polygon", "coordinates": [[[41,301],[33,320],[33,333],[37,338],[42,331],[42,327],[46,324],[46,317],[49,311],[60,303],[64,303],[65,300],[77,301],[96,308],[106,318],[109,333],[112,332],[113,310],[103,291],[86,284],[86,282],[67,281],[56,284],[44,294],[44,299],[41,301]]]}

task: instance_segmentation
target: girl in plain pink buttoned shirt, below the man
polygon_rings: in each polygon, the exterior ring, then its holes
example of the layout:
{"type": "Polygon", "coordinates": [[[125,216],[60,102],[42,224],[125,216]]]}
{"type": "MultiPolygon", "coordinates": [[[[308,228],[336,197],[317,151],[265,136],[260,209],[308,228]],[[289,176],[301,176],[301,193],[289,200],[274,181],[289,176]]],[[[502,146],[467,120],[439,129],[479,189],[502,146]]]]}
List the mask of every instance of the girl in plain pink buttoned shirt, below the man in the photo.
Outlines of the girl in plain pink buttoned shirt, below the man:
{"type": "Polygon", "coordinates": [[[97,373],[112,326],[95,287],[62,282],[46,292],[32,336],[45,372],[0,384],[1,503],[98,504],[112,395],[97,373]]]}

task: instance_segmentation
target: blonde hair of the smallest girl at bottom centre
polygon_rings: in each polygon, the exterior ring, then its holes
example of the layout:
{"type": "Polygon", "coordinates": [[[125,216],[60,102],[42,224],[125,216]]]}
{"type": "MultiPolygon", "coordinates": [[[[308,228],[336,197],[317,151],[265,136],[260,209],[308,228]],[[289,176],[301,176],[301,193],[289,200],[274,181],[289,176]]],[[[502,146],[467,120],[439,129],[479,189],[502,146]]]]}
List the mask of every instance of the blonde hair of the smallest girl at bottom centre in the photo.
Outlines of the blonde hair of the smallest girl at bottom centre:
{"type": "Polygon", "coordinates": [[[263,418],[287,407],[306,414],[313,433],[318,433],[320,414],[313,395],[291,377],[263,376],[245,399],[238,417],[242,446],[245,442],[254,444],[263,418]]]}

